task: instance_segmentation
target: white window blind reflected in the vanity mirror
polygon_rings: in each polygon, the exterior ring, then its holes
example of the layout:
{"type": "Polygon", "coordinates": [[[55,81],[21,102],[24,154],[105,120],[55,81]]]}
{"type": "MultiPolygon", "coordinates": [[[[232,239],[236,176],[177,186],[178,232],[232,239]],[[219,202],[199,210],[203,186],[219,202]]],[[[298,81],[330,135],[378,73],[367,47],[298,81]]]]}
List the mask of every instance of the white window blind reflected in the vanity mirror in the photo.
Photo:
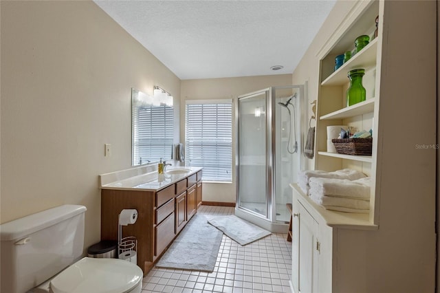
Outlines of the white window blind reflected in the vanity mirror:
{"type": "Polygon", "coordinates": [[[170,159],[173,152],[173,107],[166,105],[142,106],[136,108],[137,119],[133,140],[133,164],[170,159]]]}

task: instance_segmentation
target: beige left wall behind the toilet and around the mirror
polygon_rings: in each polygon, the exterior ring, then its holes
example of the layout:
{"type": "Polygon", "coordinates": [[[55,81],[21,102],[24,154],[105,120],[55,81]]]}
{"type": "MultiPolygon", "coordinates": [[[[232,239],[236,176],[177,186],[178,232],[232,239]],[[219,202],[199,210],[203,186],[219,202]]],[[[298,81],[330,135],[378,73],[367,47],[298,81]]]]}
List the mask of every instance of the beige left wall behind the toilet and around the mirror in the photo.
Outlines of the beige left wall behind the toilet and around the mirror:
{"type": "Polygon", "coordinates": [[[99,241],[98,175],[131,166],[131,87],[153,85],[178,115],[179,78],[95,3],[1,1],[1,223],[82,204],[99,241]]]}

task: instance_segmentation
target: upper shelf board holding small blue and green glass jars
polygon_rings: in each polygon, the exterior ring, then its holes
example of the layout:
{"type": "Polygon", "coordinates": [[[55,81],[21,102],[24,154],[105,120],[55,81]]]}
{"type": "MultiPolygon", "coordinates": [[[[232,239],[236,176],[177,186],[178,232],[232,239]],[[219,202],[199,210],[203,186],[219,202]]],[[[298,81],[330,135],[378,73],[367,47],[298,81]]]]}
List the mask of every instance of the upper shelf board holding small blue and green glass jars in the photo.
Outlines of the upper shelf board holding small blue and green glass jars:
{"type": "Polygon", "coordinates": [[[366,70],[375,67],[377,55],[377,38],[366,45],[358,54],[351,57],[347,63],[333,72],[328,78],[322,81],[321,85],[344,85],[349,82],[347,77],[351,69],[364,68],[366,70]]]}

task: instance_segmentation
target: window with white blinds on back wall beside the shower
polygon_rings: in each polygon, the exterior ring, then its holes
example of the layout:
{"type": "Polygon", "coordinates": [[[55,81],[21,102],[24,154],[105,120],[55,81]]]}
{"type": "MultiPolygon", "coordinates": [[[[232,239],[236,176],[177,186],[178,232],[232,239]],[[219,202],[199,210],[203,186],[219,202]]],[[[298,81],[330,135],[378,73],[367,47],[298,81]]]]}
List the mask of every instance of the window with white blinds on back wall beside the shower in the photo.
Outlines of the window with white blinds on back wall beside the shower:
{"type": "Polygon", "coordinates": [[[203,180],[232,182],[232,100],[186,101],[186,165],[203,180]]]}

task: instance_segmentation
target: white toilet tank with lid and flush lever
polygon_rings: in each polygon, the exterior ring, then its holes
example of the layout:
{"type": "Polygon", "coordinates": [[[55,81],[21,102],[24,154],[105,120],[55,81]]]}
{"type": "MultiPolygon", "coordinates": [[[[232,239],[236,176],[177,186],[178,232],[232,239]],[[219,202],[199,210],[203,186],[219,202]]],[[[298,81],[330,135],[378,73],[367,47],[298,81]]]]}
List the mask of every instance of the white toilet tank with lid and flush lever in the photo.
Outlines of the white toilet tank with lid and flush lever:
{"type": "Polygon", "coordinates": [[[27,292],[78,259],[86,210],[66,204],[1,224],[0,292],[27,292]]]}

